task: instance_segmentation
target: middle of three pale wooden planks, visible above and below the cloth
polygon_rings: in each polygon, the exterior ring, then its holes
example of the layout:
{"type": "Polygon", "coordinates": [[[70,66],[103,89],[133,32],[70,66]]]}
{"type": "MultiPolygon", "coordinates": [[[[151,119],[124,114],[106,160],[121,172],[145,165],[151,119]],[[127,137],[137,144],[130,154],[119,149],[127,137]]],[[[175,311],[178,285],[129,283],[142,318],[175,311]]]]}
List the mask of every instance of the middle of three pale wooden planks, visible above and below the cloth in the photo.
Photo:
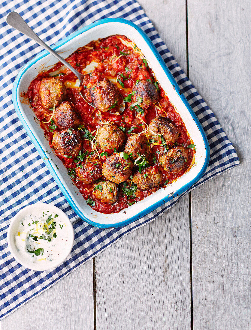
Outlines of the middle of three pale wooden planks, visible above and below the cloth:
{"type": "MultiPolygon", "coordinates": [[[[186,68],[185,0],[140,0],[186,68]]],[[[97,330],[190,329],[189,200],[96,257],[97,330]]]]}

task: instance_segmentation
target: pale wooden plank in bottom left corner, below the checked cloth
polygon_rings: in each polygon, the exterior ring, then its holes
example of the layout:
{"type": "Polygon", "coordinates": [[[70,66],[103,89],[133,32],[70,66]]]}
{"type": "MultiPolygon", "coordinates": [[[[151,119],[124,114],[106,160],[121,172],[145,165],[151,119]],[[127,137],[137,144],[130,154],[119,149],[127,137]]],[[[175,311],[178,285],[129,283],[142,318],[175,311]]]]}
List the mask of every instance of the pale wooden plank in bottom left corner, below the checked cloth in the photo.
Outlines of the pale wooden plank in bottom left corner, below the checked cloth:
{"type": "Polygon", "coordinates": [[[1,330],[93,330],[92,260],[1,320],[1,330]]]}

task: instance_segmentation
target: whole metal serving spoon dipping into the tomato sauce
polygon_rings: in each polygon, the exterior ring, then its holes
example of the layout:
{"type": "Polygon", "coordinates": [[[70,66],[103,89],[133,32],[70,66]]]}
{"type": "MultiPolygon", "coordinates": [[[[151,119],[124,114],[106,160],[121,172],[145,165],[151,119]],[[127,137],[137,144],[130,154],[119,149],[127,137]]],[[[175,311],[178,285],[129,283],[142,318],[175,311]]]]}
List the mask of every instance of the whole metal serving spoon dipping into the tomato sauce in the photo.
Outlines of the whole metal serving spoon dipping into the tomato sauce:
{"type": "MultiPolygon", "coordinates": [[[[49,46],[46,45],[46,43],[41,40],[38,35],[29,27],[29,25],[22,19],[22,17],[16,13],[16,12],[10,12],[6,17],[6,22],[14,27],[14,29],[22,32],[27,37],[33,39],[36,43],[38,43],[40,46],[42,46],[44,49],[49,51],[54,57],[56,57],[62,64],[64,64],[71,72],[74,73],[74,75],[79,79],[79,87],[82,86],[84,75],[80,72],[78,72],[76,69],[74,69],[68,62],[66,62],[65,59],[63,59],[60,55],[58,55],[53,49],[51,49],[49,46]]],[[[90,103],[87,101],[85,96],[81,93],[81,89],[79,88],[80,95],[83,97],[83,99],[93,108],[96,108],[93,103],[90,103]]],[[[120,94],[120,97],[122,99],[122,103],[118,108],[118,112],[121,114],[125,110],[125,102],[123,100],[122,95],[120,94]]]]}

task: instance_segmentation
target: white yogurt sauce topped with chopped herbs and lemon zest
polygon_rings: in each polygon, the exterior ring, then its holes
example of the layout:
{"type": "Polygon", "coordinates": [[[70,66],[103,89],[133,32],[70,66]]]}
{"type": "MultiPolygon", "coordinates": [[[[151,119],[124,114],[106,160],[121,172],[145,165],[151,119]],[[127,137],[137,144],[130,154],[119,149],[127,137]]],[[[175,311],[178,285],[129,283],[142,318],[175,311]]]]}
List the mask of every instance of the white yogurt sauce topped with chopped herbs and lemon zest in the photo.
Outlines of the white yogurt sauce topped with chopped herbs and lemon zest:
{"type": "Polygon", "coordinates": [[[55,212],[33,212],[19,222],[15,244],[27,261],[48,264],[69,244],[68,226],[55,212]]]}

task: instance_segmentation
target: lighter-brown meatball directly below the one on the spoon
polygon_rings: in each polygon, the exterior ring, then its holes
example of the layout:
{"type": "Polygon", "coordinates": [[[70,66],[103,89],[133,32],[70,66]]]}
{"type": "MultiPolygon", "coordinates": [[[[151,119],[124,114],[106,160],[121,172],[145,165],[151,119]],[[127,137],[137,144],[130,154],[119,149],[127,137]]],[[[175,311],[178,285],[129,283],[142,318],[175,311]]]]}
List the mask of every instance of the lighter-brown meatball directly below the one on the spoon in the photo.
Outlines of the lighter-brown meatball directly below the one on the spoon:
{"type": "Polygon", "coordinates": [[[109,153],[118,151],[124,143],[125,133],[116,125],[105,124],[98,129],[96,145],[109,153]]]}

